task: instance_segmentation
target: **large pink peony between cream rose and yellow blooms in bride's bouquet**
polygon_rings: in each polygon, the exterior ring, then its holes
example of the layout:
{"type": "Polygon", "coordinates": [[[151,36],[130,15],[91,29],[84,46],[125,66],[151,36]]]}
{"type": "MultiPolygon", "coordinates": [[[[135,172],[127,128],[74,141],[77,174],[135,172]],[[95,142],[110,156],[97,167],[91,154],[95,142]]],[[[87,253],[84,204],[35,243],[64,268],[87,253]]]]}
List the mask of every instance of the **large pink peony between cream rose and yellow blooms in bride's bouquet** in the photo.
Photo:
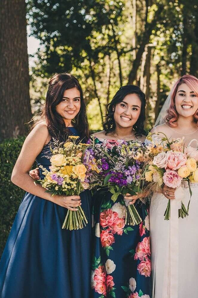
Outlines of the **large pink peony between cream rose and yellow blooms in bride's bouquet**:
{"type": "Polygon", "coordinates": [[[178,170],[180,167],[184,166],[187,162],[187,156],[182,152],[168,151],[166,153],[167,163],[165,169],[178,170]]]}

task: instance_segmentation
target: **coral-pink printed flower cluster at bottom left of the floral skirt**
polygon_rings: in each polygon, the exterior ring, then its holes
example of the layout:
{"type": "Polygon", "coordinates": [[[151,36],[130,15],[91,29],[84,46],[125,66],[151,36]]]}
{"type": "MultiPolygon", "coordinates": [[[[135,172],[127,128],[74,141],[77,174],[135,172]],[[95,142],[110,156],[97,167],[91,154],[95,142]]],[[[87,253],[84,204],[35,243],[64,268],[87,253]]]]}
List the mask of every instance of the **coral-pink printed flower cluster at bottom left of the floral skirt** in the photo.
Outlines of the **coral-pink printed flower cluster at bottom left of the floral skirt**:
{"type": "Polygon", "coordinates": [[[93,288],[98,294],[106,296],[106,292],[110,291],[115,285],[112,275],[107,274],[104,266],[99,266],[94,271],[94,286],[93,288]]]}

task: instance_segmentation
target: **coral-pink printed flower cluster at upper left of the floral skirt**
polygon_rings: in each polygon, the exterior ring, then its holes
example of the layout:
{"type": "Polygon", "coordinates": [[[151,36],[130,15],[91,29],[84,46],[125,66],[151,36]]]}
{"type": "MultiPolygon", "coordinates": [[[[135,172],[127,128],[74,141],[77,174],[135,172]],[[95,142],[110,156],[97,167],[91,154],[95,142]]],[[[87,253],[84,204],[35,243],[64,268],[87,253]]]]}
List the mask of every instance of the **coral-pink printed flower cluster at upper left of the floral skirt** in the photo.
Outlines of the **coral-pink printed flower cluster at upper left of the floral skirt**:
{"type": "Polygon", "coordinates": [[[118,217],[118,213],[112,209],[106,209],[100,213],[100,226],[104,229],[100,233],[102,247],[115,243],[114,234],[122,235],[125,222],[118,217]],[[107,228],[107,229],[106,229],[107,228]]]}

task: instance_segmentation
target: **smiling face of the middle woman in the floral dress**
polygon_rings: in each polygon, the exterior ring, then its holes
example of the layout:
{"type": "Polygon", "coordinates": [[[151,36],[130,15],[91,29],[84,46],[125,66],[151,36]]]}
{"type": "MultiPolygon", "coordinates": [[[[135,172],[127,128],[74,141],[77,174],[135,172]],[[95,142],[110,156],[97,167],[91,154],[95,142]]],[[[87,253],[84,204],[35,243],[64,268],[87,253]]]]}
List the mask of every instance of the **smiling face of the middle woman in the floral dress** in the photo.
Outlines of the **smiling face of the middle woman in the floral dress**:
{"type": "Polygon", "coordinates": [[[137,94],[127,94],[123,101],[114,107],[114,120],[116,126],[133,127],[140,116],[141,101],[137,94]]]}

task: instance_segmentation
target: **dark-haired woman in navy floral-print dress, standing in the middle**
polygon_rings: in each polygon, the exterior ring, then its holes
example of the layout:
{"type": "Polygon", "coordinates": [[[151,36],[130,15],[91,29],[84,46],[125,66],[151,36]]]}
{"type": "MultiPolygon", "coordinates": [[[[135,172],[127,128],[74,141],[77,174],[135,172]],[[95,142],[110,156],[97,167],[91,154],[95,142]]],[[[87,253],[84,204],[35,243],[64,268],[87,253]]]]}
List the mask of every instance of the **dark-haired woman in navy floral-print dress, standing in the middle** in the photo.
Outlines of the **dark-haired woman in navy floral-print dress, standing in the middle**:
{"type": "MultiPolygon", "coordinates": [[[[111,103],[104,130],[95,134],[108,146],[118,139],[144,142],[146,133],[145,94],[139,87],[121,87],[111,103]]],[[[151,260],[148,206],[140,196],[120,195],[115,202],[107,189],[97,191],[94,201],[94,256],[91,272],[91,297],[151,297],[151,260]],[[133,199],[132,202],[130,200],[133,199]],[[125,201],[135,204],[143,221],[125,225],[125,201]],[[145,254],[141,255],[141,251],[145,254]]]]}

